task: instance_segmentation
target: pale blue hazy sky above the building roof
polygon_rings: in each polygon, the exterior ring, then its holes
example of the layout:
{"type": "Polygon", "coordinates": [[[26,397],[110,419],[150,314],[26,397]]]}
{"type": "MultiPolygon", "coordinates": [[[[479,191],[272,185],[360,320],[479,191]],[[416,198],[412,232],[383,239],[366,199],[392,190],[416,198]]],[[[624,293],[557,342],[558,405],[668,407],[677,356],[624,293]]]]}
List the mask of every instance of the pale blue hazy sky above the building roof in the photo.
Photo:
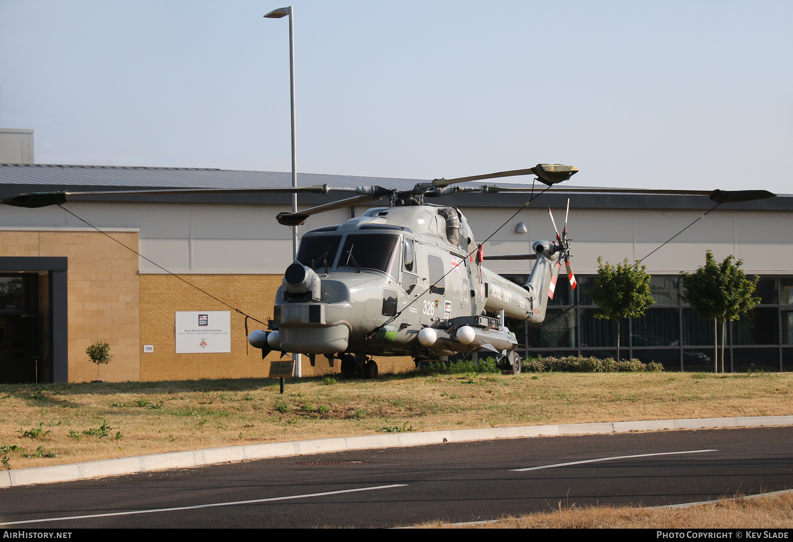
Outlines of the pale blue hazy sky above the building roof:
{"type": "MultiPolygon", "coordinates": [[[[293,2],[300,172],[793,193],[789,0],[293,2]]],[[[37,163],[289,171],[278,7],[0,0],[0,128],[37,163]]]]}

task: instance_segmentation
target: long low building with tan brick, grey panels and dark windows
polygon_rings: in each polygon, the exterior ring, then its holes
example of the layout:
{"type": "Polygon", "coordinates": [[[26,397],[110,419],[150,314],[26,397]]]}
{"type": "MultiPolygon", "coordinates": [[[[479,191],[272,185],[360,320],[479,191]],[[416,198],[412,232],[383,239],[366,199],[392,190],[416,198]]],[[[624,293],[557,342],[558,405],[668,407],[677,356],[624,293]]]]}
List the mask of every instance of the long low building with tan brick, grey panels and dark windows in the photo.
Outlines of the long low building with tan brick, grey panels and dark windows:
{"type": "MultiPolygon", "coordinates": [[[[324,174],[301,174],[298,179],[301,185],[408,188],[416,183],[324,174]]],[[[3,199],[59,189],[289,184],[289,174],[260,171],[0,165],[3,199]]],[[[597,257],[612,263],[642,258],[713,204],[707,197],[564,193],[557,185],[536,200],[536,207],[532,204],[492,235],[485,253],[523,254],[530,251],[531,241],[553,239],[547,206],[563,209],[568,197],[573,266],[581,288],[573,292],[566,279],[560,278],[550,311],[550,317],[558,318],[540,330],[530,330],[523,323],[511,323],[511,330],[525,345],[524,355],[614,356],[613,324],[592,318],[597,307],[573,306],[596,273],[597,257]]],[[[102,368],[105,380],[266,376],[268,361],[247,345],[246,319],[217,300],[262,321],[272,316],[274,293],[291,262],[292,250],[292,232],[275,215],[291,210],[289,198],[110,194],[75,197],[63,208],[2,206],[0,381],[92,380],[96,368],[85,349],[98,340],[108,342],[113,354],[113,361],[102,368]],[[187,311],[230,312],[231,351],[177,353],[174,319],[177,312],[187,311]]],[[[460,193],[439,198],[437,203],[461,208],[476,238],[485,239],[526,199],[524,194],[460,193]]],[[[299,201],[305,208],[327,203],[328,198],[301,195],[299,201]]],[[[326,212],[309,219],[301,229],[341,223],[365,210],[359,206],[326,212]]],[[[623,323],[626,355],[660,361],[667,370],[711,368],[712,323],[696,317],[680,302],[679,293],[680,272],[703,265],[705,251],[712,250],[718,259],[734,254],[743,259],[746,273],[761,277],[758,295],[763,303],[729,326],[727,367],[739,371],[754,364],[764,370],[793,370],[791,219],[791,196],[725,204],[647,258],[644,264],[653,275],[656,304],[644,318],[623,323]]],[[[526,275],[531,265],[526,261],[487,263],[508,277],[526,275]]],[[[251,320],[247,325],[261,327],[251,320]]],[[[270,354],[270,359],[277,355],[270,354]]],[[[381,370],[412,365],[409,359],[379,362],[381,370]]],[[[330,368],[322,359],[311,368],[305,360],[303,371],[304,375],[321,374],[338,371],[338,365],[330,368]]]]}

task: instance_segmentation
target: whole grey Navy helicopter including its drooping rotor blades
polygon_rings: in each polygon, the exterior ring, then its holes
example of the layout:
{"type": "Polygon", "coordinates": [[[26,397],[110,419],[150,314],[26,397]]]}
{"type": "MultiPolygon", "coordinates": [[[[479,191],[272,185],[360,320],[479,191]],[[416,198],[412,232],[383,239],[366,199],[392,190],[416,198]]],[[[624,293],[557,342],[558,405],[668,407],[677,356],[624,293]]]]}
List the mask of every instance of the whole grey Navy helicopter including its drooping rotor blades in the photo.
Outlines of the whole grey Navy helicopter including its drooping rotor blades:
{"type": "MultiPolygon", "coordinates": [[[[301,353],[316,365],[324,356],[331,366],[341,361],[343,376],[377,376],[374,356],[409,356],[416,365],[449,356],[485,353],[504,372],[521,372],[522,360],[507,317],[542,326],[548,300],[554,296],[562,262],[570,285],[568,209],[561,233],[550,219],[555,240],[531,243],[530,254],[485,255],[462,212],[427,199],[454,193],[534,193],[525,186],[470,185],[498,177],[534,175],[552,188],[578,172],[574,166],[538,164],[524,170],[435,179],[412,189],[328,185],[261,189],[144,189],[102,192],[22,193],[2,204],[25,208],[61,205],[70,197],[167,195],[199,193],[354,193],[354,197],[276,217],[297,227],[311,216],[387,198],[388,206],[369,208],[344,223],[306,232],[295,261],[276,292],[273,318],[266,330],[248,334],[250,345],[282,356],[301,353]],[[468,183],[467,185],[462,185],[468,183]],[[534,261],[524,284],[515,284],[487,269],[488,260],[534,261]]],[[[661,193],[708,196],[716,204],[773,197],[764,190],[712,192],[698,190],[565,188],[565,193],[661,193]]],[[[525,205],[523,206],[525,207],[525,205]]],[[[550,212],[550,208],[549,208],[550,212]]]]}

